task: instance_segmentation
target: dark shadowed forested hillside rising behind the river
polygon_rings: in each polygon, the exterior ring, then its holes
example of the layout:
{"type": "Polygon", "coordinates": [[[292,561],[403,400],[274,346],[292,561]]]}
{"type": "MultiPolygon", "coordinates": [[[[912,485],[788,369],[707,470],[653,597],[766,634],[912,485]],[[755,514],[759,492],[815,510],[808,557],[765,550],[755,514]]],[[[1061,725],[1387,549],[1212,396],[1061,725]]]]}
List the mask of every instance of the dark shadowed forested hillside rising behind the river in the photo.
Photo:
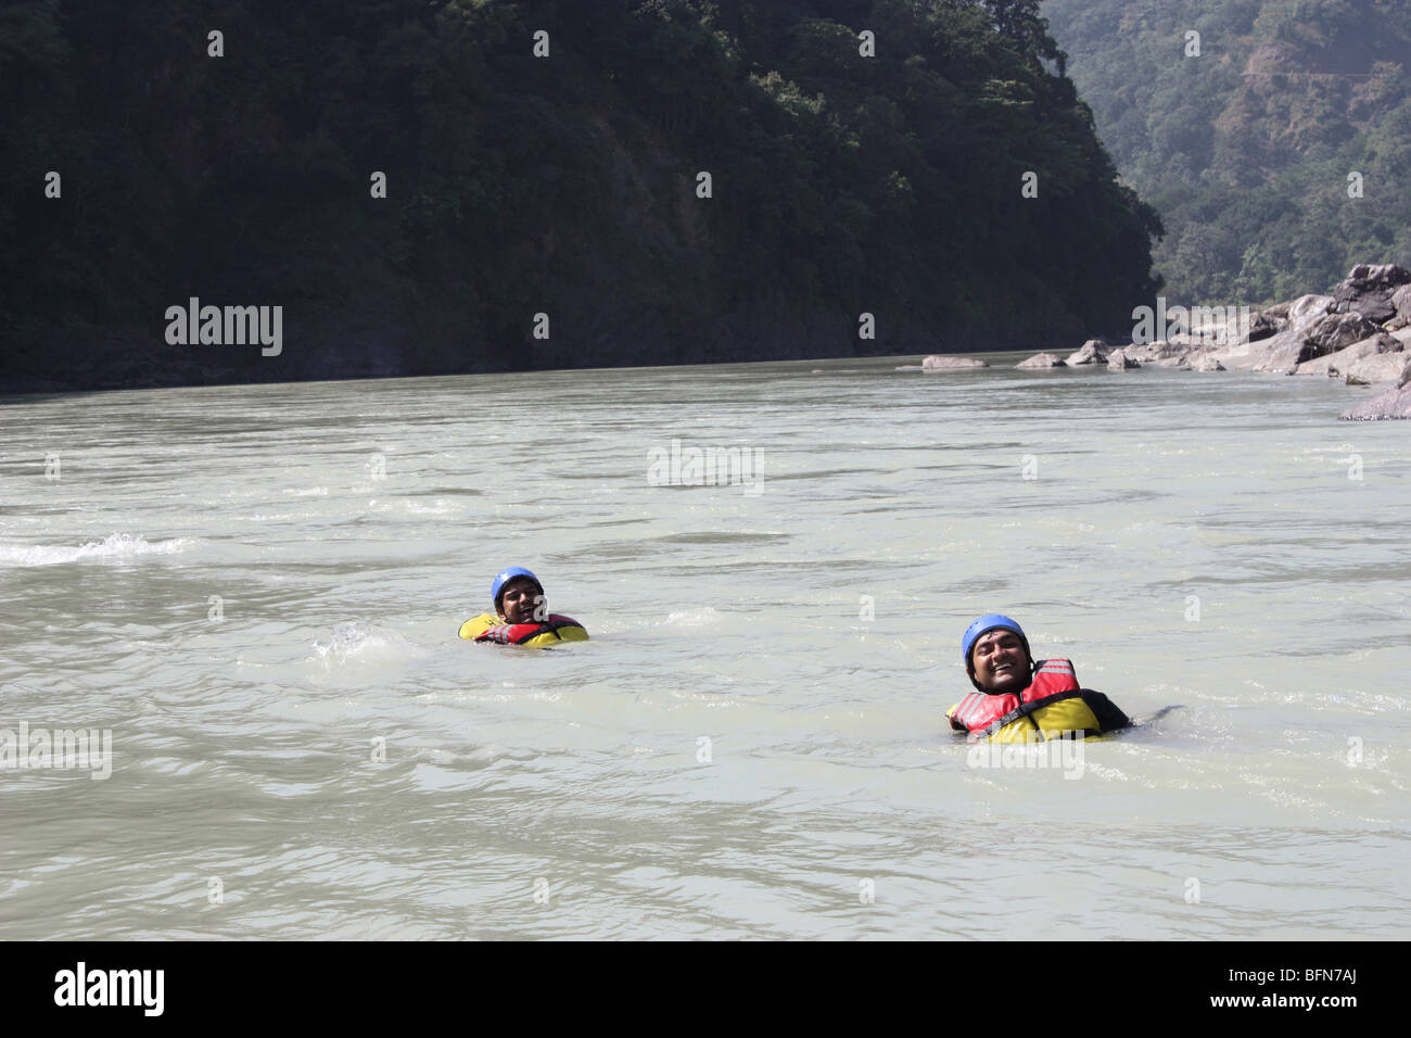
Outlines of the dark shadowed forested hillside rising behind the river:
{"type": "Polygon", "coordinates": [[[1037,0],[11,4],[0,388],[1126,328],[1158,223],[1061,61],[1037,0]],[[284,306],[282,356],[166,345],[189,297],[284,306]]]}

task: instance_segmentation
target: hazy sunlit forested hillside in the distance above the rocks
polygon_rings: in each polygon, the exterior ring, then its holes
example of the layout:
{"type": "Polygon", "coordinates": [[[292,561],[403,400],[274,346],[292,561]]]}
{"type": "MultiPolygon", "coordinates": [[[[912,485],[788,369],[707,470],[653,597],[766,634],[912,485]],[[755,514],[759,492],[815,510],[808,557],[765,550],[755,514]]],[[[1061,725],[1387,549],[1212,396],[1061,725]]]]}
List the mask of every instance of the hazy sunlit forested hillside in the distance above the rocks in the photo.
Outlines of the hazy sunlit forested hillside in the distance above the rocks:
{"type": "Polygon", "coordinates": [[[1118,168],[1161,213],[1173,301],[1261,304],[1355,263],[1411,264],[1411,0],[1043,10],[1118,168]]]}

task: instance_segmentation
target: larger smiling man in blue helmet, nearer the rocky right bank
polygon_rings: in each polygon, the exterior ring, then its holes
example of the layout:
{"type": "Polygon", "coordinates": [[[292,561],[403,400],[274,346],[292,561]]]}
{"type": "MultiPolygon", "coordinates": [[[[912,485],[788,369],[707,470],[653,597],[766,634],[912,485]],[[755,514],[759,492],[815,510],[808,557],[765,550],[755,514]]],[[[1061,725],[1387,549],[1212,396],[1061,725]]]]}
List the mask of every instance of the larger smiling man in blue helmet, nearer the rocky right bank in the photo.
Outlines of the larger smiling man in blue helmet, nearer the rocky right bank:
{"type": "Polygon", "coordinates": [[[1132,723],[1105,695],[1081,688],[1068,660],[1036,664],[1023,628],[1007,616],[986,613],[967,627],[961,657],[975,691],[945,716],[974,739],[1078,739],[1132,723]]]}

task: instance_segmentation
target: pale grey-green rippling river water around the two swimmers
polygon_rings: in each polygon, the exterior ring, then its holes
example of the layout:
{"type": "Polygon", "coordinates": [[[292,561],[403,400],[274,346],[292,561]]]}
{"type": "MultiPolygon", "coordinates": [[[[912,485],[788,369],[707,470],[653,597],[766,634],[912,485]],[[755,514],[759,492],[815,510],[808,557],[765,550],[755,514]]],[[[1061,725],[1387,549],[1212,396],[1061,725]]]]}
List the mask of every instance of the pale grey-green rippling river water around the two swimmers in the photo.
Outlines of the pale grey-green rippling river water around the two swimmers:
{"type": "Polygon", "coordinates": [[[0,936],[1403,936],[1411,425],[1020,356],[11,398],[0,936]],[[1178,709],[969,751],[996,610],[1178,709]]]}

